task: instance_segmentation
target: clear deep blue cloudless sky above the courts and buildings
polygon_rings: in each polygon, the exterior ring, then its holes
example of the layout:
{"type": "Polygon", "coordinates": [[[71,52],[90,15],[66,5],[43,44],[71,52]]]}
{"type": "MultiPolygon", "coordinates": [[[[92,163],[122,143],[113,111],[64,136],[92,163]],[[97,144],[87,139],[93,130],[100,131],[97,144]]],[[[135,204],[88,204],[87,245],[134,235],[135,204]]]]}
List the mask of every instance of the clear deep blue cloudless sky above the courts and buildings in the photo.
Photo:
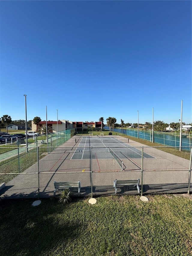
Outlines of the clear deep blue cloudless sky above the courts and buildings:
{"type": "Polygon", "coordinates": [[[1,1],[0,116],[192,122],[191,1],[1,1]]]}

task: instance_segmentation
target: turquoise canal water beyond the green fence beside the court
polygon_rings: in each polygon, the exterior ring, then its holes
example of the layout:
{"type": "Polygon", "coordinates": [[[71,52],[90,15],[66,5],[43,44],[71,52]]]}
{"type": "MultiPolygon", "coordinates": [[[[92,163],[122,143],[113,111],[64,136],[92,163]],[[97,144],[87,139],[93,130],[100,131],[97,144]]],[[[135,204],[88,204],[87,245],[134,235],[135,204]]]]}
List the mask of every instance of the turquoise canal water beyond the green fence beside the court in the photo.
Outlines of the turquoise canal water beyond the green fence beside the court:
{"type": "MultiPolygon", "coordinates": [[[[105,130],[109,130],[108,126],[104,127],[105,130]]],[[[118,134],[125,134],[132,137],[138,136],[137,129],[127,128],[114,128],[114,132],[118,132],[118,134]]],[[[182,147],[190,147],[192,146],[192,135],[188,134],[182,136],[182,147]]],[[[139,130],[139,138],[144,140],[149,140],[152,142],[152,131],[144,131],[139,130]]],[[[154,131],[154,142],[161,143],[167,146],[179,147],[180,146],[180,134],[178,133],[169,133],[169,132],[157,132],[154,131]]]]}

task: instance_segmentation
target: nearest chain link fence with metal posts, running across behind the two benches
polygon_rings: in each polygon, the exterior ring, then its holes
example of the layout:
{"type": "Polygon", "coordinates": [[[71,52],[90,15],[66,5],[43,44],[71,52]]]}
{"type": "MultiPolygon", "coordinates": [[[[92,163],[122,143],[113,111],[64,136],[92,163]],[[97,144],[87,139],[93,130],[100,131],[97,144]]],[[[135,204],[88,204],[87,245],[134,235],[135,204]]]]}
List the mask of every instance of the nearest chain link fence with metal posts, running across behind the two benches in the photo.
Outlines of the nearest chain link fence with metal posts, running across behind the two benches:
{"type": "MultiPolygon", "coordinates": [[[[179,147],[63,147],[54,137],[52,147],[0,148],[1,198],[52,197],[54,181],[80,181],[81,197],[113,195],[116,179],[140,179],[141,195],[190,194],[191,148],[183,148],[181,157],[179,147]]],[[[138,192],[124,185],[117,194],[138,192]]]]}

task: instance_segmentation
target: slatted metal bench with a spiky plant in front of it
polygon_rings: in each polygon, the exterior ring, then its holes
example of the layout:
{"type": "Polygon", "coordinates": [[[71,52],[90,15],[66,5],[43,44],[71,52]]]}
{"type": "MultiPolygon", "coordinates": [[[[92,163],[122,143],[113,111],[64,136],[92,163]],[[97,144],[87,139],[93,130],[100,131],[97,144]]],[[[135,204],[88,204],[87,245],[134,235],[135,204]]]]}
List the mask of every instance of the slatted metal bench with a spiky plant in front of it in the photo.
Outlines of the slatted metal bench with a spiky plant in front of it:
{"type": "Polygon", "coordinates": [[[69,188],[70,191],[76,192],[78,189],[78,196],[80,195],[80,189],[81,189],[81,182],[80,181],[76,181],[76,182],[69,182],[69,181],[61,181],[61,182],[56,182],[54,181],[54,196],[56,194],[57,190],[64,190],[69,188]]]}

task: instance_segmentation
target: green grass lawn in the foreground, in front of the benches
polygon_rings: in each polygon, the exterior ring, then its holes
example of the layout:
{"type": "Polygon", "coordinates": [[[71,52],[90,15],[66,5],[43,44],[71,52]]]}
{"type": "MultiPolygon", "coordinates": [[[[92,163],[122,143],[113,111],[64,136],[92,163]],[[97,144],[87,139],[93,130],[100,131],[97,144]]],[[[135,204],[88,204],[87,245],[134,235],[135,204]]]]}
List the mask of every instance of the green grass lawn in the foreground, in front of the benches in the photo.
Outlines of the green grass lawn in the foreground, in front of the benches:
{"type": "Polygon", "coordinates": [[[192,255],[192,200],[156,195],[0,201],[0,255],[192,255]]]}

